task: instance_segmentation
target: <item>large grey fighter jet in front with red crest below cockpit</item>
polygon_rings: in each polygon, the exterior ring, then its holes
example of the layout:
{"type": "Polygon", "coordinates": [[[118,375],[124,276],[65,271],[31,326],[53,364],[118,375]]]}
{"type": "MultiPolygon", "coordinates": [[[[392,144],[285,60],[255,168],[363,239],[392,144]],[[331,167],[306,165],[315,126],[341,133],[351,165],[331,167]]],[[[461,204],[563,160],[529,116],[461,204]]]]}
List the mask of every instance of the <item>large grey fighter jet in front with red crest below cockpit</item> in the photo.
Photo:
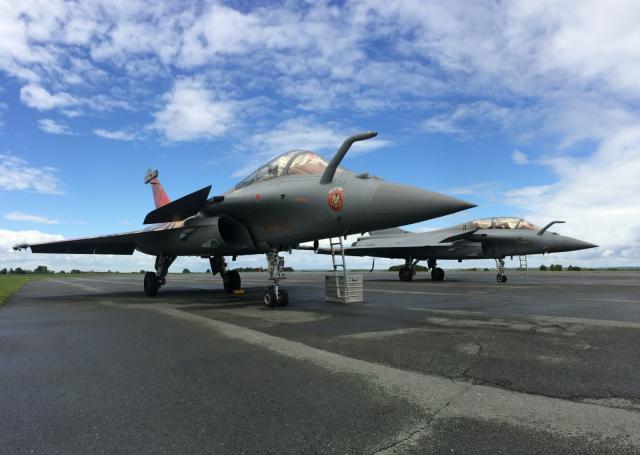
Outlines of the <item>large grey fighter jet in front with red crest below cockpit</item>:
{"type": "Polygon", "coordinates": [[[170,202],[150,169],[145,183],[153,189],[156,209],[148,229],[123,234],[40,244],[16,245],[33,253],[133,254],[156,257],[155,272],[144,276],[144,291],[155,296],[166,283],[177,256],[208,258],[224,289],[240,289],[240,274],[228,270],[225,256],[264,253],[267,306],[286,305],[279,286],[285,279],[282,251],[299,243],[365,233],[428,220],[474,204],[423,189],[385,182],[368,173],[340,166],[351,145],[376,136],[366,132],[347,138],[331,161],[305,150],[286,152],[252,172],[226,193],[209,198],[211,186],[170,202]]]}

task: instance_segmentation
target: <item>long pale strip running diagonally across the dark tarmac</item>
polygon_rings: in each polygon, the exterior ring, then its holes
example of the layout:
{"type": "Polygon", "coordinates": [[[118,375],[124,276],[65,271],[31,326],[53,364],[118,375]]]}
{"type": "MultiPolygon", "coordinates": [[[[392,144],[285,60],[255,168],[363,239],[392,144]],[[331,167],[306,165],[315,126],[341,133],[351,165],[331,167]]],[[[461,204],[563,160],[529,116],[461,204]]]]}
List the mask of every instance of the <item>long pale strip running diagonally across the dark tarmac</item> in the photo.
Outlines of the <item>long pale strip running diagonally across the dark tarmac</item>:
{"type": "MultiPolygon", "coordinates": [[[[117,306],[105,302],[107,305],[117,306]]],[[[122,308],[118,306],[118,308],[122,308]]],[[[352,374],[386,393],[421,406],[435,418],[472,418],[503,422],[589,441],[640,448],[640,413],[578,403],[485,385],[474,385],[389,367],[325,351],[228,322],[187,313],[171,306],[138,306],[215,330],[230,339],[309,362],[329,371],[352,374]]]]}

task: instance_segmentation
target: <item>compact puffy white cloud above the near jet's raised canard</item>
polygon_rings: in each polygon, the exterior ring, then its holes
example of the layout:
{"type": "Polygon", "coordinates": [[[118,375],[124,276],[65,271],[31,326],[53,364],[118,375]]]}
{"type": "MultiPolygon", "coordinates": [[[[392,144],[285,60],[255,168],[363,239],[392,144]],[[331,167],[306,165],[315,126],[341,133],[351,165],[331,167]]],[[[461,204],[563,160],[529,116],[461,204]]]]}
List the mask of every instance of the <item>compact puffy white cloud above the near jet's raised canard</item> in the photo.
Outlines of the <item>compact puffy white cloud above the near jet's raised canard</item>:
{"type": "Polygon", "coordinates": [[[213,139],[233,126],[237,104],[220,99],[202,80],[178,80],[164,99],[152,127],[170,141],[213,139]]]}

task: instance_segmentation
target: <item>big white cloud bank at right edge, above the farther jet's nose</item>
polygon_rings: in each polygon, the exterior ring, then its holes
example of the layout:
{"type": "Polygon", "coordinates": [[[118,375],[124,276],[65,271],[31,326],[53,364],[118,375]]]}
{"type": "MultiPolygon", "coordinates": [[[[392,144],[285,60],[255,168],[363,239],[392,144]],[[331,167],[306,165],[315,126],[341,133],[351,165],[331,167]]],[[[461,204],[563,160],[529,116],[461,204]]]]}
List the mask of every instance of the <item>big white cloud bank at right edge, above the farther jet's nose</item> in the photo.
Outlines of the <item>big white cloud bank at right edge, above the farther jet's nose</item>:
{"type": "Polygon", "coordinates": [[[511,203],[526,207],[527,215],[539,224],[566,220],[563,233],[600,245],[580,252],[580,257],[607,255],[637,264],[640,128],[614,132],[585,159],[555,159],[547,165],[557,181],[511,191],[511,203]]]}

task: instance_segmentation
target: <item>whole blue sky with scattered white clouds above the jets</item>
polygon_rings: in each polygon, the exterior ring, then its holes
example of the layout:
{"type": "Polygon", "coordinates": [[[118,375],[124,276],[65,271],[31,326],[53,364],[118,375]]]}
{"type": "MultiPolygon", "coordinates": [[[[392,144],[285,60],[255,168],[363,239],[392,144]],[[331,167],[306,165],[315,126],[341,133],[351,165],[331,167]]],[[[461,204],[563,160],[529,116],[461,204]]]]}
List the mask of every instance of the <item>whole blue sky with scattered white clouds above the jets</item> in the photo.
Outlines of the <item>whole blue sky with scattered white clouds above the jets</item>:
{"type": "Polygon", "coordinates": [[[0,268],[151,269],[11,247],[141,228],[149,167],[171,198],[221,194],[366,130],[349,169],[478,204],[411,230],[560,219],[599,247],[530,266],[640,265],[639,22],[634,1],[0,0],[0,268]]]}

